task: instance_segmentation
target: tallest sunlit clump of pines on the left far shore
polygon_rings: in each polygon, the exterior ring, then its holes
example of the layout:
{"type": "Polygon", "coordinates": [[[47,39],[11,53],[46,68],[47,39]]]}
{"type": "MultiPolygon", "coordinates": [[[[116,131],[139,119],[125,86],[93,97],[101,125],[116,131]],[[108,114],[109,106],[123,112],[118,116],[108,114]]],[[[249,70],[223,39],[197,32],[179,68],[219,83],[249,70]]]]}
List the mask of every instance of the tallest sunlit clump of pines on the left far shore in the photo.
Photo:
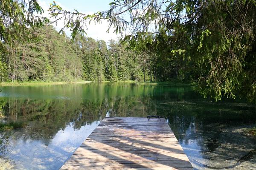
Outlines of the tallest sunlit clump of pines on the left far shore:
{"type": "MultiPolygon", "coordinates": [[[[76,81],[82,76],[82,62],[72,48],[72,41],[46,25],[31,32],[38,41],[15,46],[5,43],[3,74],[12,81],[76,81]],[[6,55],[7,54],[7,55],[6,55]]],[[[2,72],[1,72],[2,73],[2,72]]],[[[5,79],[6,80],[6,79],[5,79]]]]}

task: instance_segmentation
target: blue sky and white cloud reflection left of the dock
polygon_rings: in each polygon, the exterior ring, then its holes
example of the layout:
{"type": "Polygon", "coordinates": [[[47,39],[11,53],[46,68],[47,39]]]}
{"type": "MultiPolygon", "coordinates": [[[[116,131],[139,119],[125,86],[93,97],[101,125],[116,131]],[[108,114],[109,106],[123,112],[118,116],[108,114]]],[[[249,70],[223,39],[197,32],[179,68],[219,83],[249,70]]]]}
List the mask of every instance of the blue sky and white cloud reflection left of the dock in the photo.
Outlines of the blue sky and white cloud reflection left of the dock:
{"type": "Polygon", "coordinates": [[[15,162],[17,169],[58,169],[98,124],[95,121],[79,130],[74,130],[72,124],[67,125],[55,134],[48,146],[40,140],[24,141],[19,136],[26,134],[22,130],[17,131],[14,137],[18,139],[9,158],[15,162]]]}

